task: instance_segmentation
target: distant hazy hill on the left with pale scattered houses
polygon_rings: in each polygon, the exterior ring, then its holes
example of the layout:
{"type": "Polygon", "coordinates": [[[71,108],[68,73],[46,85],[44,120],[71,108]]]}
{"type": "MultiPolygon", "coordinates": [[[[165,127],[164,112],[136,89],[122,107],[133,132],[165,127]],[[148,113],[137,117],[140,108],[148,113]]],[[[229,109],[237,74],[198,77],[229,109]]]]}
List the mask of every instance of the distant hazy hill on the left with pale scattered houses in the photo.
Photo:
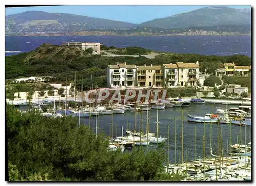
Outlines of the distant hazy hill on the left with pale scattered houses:
{"type": "Polygon", "coordinates": [[[5,18],[6,34],[69,33],[92,29],[131,29],[137,24],[73,14],[28,11],[5,18]]]}

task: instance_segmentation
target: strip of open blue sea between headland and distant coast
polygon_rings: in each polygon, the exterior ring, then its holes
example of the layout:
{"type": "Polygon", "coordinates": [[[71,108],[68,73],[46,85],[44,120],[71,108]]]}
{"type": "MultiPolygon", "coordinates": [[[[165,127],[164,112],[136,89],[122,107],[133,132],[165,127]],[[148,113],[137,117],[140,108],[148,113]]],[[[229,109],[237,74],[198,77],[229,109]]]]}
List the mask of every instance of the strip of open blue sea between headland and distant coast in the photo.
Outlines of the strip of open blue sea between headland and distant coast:
{"type": "Polygon", "coordinates": [[[16,55],[42,43],[100,42],[107,46],[140,46],[154,51],[200,55],[251,56],[250,36],[6,36],[5,55],[16,55]]]}

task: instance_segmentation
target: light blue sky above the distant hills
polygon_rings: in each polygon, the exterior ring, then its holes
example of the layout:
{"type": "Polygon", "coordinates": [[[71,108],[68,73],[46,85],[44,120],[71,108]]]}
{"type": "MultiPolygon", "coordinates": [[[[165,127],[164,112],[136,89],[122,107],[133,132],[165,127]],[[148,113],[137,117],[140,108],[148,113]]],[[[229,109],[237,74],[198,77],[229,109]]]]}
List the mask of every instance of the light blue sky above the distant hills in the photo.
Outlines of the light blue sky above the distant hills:
{"type": "MultiPolygon", "coordinates": [[[[216,5],[215,5],[216,6],[216,5]]],[[[222,5],[223,6],[223,5],[222,5]]],[[[82,5],[82,6],[48,6],[48,7],[21,7],[6,8],[6,15],[17,14],[26,11],[45,11],[49,13],[69,13],[78,14],[96,18],[104,18],[118,21],[126,21],[131,23],[142,23],[155,18],[163,18],[183,12],[189,12],[207,6],[177,6],[177,5],[82,5]]],[[[250,6],[228,6],[230,8],[250,8],[250,6]]]]}

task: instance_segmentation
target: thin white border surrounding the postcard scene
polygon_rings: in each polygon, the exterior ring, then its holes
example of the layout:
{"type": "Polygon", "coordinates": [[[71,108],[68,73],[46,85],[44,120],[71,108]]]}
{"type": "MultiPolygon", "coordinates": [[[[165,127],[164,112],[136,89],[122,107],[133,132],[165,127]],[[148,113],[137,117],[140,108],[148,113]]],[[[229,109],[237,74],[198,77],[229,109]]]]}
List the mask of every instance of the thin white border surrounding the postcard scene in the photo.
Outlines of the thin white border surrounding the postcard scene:
{"type": "MultiPolygon", "coordinates": [[[[255,1],[252,1],[252,0],[244,0],[244,1],[233,1],[233,0],[226,0],[226,1],[221,1],[221,0],[215,0],[214,2],[210,2],[210,3],[206,3],[205,1],[203,0],[197,0],[197,1],[187,1],[187,0],[179,0],[179,1],[172,1],[172,3],[169,3],[169,1],[164,1],[164,0],[158,0],[158,1],[153,1],[153,0],[140,0],[140,1],[137,1],[137,0],[130,0],[130,1],[117,1],[117,0],[112,0],[112,1],[102,1],[102,0],[98,0],[98,1],[63,1],[63,0],[58,0],[58,1],[49,1],[49,0],[45,0],[45,1],[27,1],[27,0],[24,0],[22,1],[22,4],[23,5],[35,5],[35,4],[40,4],[40,5],[70,5],[70,3],[72,3],[72,5],[255,5],[255,1]],[[129,4],[128,4],[129,2],[129,4]],[[193,3],[193,4],[191,4],[193,3]]],[[[5,4],[8,4],[8,5],[19,5],[20,4],[20,1],[8,1],[8,2],[4,2],[4,5],[5,4]]],[[[5,16],[5,8],[4,5],[2,5],[2,12],[1,12],[1,17],[2,17],[2,29],[1,29],[1,35],[3,36],[3,39],[5,41],[5,19],[4,19],[4,16],[5,16]]],[[[255,14],[255,11],[254,11],[254,14],[255,14]]],[[[254,16],[253,16],[254,17],[254,16]]],[[[253,19],[253,23],[255,22],[255,20],[253,19]]],[[[252,25],[253,26],[253,25],[252,25]]],[[[254,34],[254,32],[253,32],[254,34]]],[[[4,51],[5,51],[5,43],[2,42],[2,45],[1,45],[1,49],[2,49],[2,52],[4,54],[4,51]]],[[[255,48],[253,48],[253,54],[254,54],[254,51],[255,51],[255,48]]],[[[4,56],[4,55],[3,55],[4,56]]],[[[3,72],[0,73],[1,75],[1,87],[5,87],[5,64],[4,64],[4,61],[5,61],[5,58],[3,57],[3,60],[1,62],[1,66],[2,66],[2,70],[3,72]]],[[[252,62],[253,63],[253,62],[252,62]]],[[[253,71],[255,72],[255,68],[256,68],[256,64],[255,65],[252,65],[253,67],[253,71]],[[254,67],[255,66],[255,67],[254,67]]],[[[255,77],[255,75],[254,75],[255,77]]],[[[254,79],[253,79],[254,80],[254,79]]],[[[255,84],[255,82],[253,81],[253,85],[255,84]]],[[[254,92],[254,88],[255,86],[253,86],[253,92],[254,92]]],[[[7,182],[5,182],[5,93],[4,91],[1,91],[0,92],[1,94],[1,100],[3,101],[2,104],[0,104],[0,107],[1,107],[1,132],[2,132],[2,135],[1,135],[1,185],[6,185],[8,184],[7,182]]],[[[253,105],[254,107],[254,105],[253,105]]],[[[253,109],[254,111],[254,109],[253,109]]],[[[254,113],[253,113],[254,115],[254,113]]],[[[255,117],[255,115],[254,115],[255,117]]],[[[254,122],[253,122],[254,123],[254,122]]],[[[256,127],[254,127],[256,128],[256,127]]],[[[254,133],[256,134],[256,133],[254,133]]],[[[254,143],[253,143],[254,144],[254,143]]],[[[254,149],[254,148],[253,148],[254,149]]],[[[254,163],[255,161],[253,161],[254,163]]],[[[254,167],[254,166],[253,166],[254,167]]],[[[253,171],[255,172],[255,171],[253,171]]],[[[254,175],[253,175],[253,178],[255,179],[254,175]]],[[[193,183],[193,182],[191,182],[193,183]]],[[[20,184],[20,185],[24,185],[24,184],[27,184],[27,183],[16,183],[16,184],[20,184]]],[[[40,183],[30,183],[30,185],[39,185],[40,183]]],[[[69,185],[74,185],[75,183],[68,183],[69,185]]],[[[82,183],[81,183],[82,184],[82,183]]],[[[90,184],[90,183],[86,183],[86,184],[90,184]]],[[[95,184],[95,183],[94,183],[95,184]]],[[[96,183],[96,184],[99,184],[99,183],[96,183]]],[[[108,183],[108,184],[113,184],[113,183],[108,183]]],[[[120,183],[118,183],[120,184],[120,183]]],[[[139,184],[139,183],[132,183],[132,184],[139,184]]],[[[146,183],[146,184],[157,184],[157,183],[146,183]]],[[[174,184],[174,185],[178,185],[180,183],[162,183],[162,184],[174,184]]],[[[184,183],[181,183],[181,184],[184,184],[184,183]]],[[[197,184],[197,183],[194,183],[194,184],[197,184]]],[[[224,182],[207,182],[206,184],[225,184],[224,182]]],[[[226,184],[230,184],[232,185],[233,183],[230,182],[230,183],[226,183],[226,184]]],[[[240,185],[241,184],[245,184],[245,183],[239,183],[240,185]]],[[[49,183],[49,185],[62,185],[62,183],[49,183]]]]}

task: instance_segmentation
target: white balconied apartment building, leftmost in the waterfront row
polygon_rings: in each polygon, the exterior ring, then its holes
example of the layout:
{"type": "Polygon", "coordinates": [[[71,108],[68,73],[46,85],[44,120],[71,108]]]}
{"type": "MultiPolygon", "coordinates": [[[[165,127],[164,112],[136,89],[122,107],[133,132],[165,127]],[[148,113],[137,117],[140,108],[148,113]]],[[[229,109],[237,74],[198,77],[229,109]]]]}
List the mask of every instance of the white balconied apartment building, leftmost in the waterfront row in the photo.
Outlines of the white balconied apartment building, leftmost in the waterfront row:
{"type": "Polygon", "coordinates": [[[108,87],[137,86],[136,69],[136,65],[126,65],[126,63],[109,65],[106,70],[108,87]]]}

